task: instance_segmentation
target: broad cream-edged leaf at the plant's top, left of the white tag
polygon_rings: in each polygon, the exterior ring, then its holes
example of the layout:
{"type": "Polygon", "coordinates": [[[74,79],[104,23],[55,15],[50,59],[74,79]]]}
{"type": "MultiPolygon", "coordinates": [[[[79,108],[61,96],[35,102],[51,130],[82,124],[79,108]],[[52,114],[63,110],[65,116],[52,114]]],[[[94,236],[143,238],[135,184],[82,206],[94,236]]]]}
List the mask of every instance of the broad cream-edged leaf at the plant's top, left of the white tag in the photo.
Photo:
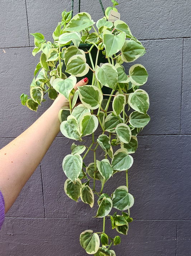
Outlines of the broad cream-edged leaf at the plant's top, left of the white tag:
{"type": "Polygon", "coordinates": [[[77,31],[80,32],[86,28],[94,25],[95,22],[91,19],[89,13],[82,12],[76,14],[65,28],[65,31],[77,31]]]}

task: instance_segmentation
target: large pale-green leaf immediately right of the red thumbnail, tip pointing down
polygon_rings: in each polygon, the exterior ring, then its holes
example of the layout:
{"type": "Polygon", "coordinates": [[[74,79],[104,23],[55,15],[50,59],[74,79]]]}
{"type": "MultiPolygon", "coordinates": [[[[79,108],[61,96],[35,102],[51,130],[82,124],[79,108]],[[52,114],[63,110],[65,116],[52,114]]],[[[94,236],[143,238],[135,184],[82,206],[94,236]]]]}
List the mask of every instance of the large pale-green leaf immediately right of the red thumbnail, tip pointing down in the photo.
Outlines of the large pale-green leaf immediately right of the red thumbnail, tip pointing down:
{"type": "Polygon", "coordinates": [[[102,85],[115,90],[118,81],[118,72],[112,64],[105,63],[101,67],[97,67],[95,76],[102,85]]]}

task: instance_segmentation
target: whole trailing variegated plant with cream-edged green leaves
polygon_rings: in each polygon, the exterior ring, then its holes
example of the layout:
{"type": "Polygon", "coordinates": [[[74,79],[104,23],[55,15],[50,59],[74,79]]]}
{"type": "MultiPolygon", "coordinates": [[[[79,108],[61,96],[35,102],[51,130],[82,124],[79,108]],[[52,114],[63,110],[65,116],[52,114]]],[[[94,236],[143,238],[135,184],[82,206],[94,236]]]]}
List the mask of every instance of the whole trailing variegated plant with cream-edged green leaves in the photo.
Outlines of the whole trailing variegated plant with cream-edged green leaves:
{"type": "Polygon", "coordinates": [[[146,69],[141,64],[134,64],[127,75],[122,66],[123,62],[137,60],[145,53],[145,48],[125,22],[108,21],[110,10],[117,11],[115,6],[118,3],[112,2],[113,6],[106,9],[105,17],[96,23],[86,12],[71,18],[71,12],[64,11],[61,23],[53,32],[53,43],[46,42],[41,33],[32,34],[33,55],[41,52],[40,61],[34,71],[30,96],[21,95],[22,104],[34,111],[45,101],[46,93],[53,100],[61,93],[69,102],[70,107],[59,112],[60,130],[78,144],[73,143],[71,154],[63,159],[63,171],[68,178],[64,190],[71,199],[78,201],[81,198],[90,207],[97,196],[95,217],[103,218],[103,230],[85,230],[80,235],[81,246],[95,256],[115,256],[110,247],[121,240],[118,235],[113,238],[105,231],[107,216],[112,228],[124,235],[133,220],[129,209],[134,197],[128,192],[128,169],[133,164],[131,154],[138,147],[137,134],[150,120],[147,114],[149,96],[139,89],[147,81],[146,69]],[[87,73],[90,74],[89,85],[74,91],[77,78],[82,79],[87,73]],[[78,98],[81,104],[75,107],[78,98]],[[98,126],[102,132],[95,139],[98,126]],[[84,137],[91,134],[92,143],[88,145],[84,137]],[[117,150],[114,149],[116,145],[117,150]],[[103,150],[101,161],[96,159],[98,147],[103,150]],[[94,152],[94,158],[86,163],[90,151],[94,152]],[[110,192],[104,191],[104,184],[116,172],[126,172],[126,184],[116,188],[110,196],[110,192]],[[95,180],[101,182],[100,191],[95,180]],[[113,208],[118,214],[111,214],[113,208]]]}

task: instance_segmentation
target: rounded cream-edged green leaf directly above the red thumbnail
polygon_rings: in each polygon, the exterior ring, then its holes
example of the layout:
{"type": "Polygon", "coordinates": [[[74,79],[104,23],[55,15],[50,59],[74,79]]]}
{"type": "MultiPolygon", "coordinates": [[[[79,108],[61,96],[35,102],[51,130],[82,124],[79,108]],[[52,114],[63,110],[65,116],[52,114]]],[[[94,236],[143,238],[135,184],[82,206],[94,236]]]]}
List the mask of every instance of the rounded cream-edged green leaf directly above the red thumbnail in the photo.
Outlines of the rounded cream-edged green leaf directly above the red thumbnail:
{"type": "Polygon", "coordinates": [[[86,58],[81,55],[72,56],[67,63],[66,72],[74,76],[85,76],[89,71],[89,65],[86,63],[86,58]]]}

